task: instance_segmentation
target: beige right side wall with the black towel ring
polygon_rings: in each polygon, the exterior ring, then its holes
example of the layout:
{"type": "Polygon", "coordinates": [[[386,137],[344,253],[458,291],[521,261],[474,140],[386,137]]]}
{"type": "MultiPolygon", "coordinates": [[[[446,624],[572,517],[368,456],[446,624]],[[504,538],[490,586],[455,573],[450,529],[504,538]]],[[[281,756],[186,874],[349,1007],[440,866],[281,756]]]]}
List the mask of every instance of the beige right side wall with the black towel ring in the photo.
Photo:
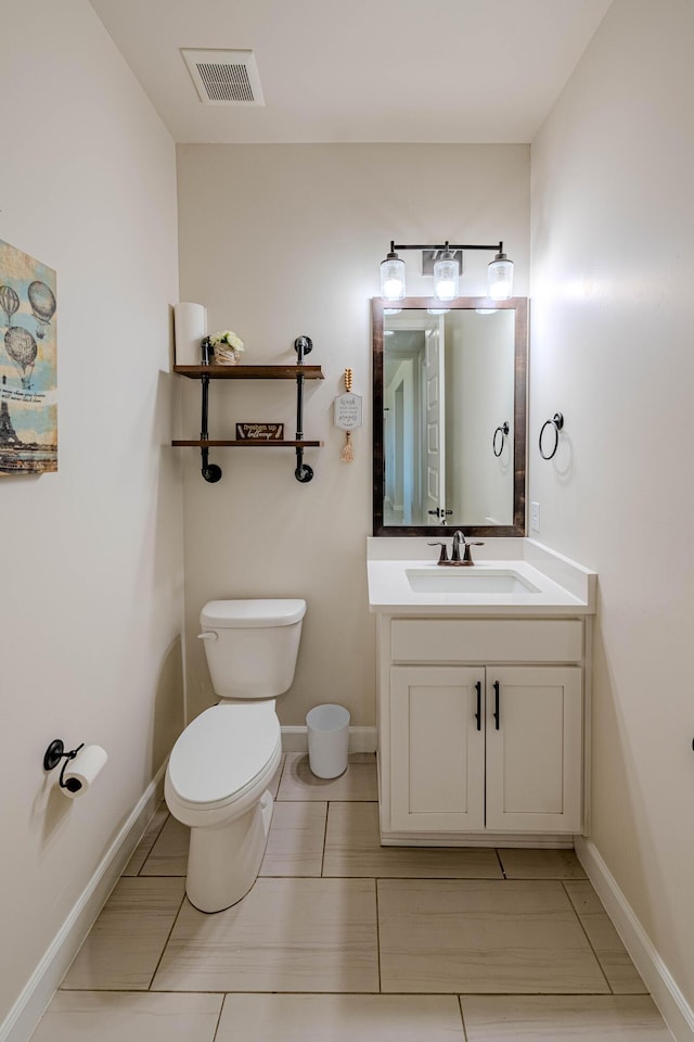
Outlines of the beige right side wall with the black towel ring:
{"type": "Polygon", "coordinates": [[[600,573],[591,838],[690,1005],[693,51],[692,3],[615,0],[532,144],[530,387],[540,538],[600,573]]]}

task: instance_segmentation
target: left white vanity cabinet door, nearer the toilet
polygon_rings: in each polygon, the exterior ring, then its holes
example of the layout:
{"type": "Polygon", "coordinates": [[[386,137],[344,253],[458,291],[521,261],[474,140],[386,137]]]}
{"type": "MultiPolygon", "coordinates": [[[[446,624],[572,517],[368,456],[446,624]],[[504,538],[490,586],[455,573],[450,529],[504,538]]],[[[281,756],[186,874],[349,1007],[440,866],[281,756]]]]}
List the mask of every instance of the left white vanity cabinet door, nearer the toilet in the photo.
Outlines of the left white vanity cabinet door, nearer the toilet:
{"type": "Polygon", "coordinates": [[[391,668],[390,725],[391,827],[484,828],[484,669],[391,668]]]}

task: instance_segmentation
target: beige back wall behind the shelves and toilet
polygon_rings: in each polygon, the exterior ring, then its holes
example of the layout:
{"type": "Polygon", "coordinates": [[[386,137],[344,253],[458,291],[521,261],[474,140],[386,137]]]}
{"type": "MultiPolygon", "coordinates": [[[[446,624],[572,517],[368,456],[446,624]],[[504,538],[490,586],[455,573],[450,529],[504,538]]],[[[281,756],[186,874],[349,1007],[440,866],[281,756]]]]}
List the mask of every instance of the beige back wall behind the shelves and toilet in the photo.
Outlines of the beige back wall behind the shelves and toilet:
{"type": "MultiPolygon", "coordinates": [[[[371,532],[370,301],[389,242],[494,242],[517,262],[527,292],[527,145],[183,145],[178,148],[183,300],[209,310],[210,330],[231,328],[247,363],[293,363],[294,339],[313,340],[308,361],[325,380],[307,384],[310,484],[294,479],[288,449],[218,449],[219,484],[184,454],[187,634],[190,713],[213,700],[197,615],[213,597],[303,596],[308,602],[297,675],[280,701],[300,725],[319,702],[347,706],[356,725],[375,723],[374,624],[368,611],[365,536],[371,532]],[[364,397],[356,460],[332,404],[354,369],[364,397]]],[[[414,277],[411,293],[425,283],[414,277]]],[[[466,254],[461,292],[484,292],[491,255],[466,254]]],[[[430,292],[430,279],[426,283],[430,292]]],[[[184,428],[200,430],[200,391],[183,389],[184,428]]],[[[281,420],[294,433],[291,383],[213,384],[210,433],[233,436],[239,420],[281,420]]]]}

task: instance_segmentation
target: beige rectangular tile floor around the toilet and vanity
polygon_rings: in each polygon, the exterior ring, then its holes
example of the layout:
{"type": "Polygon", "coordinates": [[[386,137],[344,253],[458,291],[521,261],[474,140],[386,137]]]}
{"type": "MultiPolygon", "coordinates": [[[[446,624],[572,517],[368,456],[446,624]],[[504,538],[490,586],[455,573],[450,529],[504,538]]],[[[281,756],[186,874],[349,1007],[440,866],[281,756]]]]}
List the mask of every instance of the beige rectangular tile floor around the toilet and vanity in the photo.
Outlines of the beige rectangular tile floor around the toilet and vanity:
{"type": "Polygon", "coordinates": [[[33,1042],[671,1042],[573,852],[382,848],[372,755],[273,788],[217,915],[159,808],[33,1042]]]}

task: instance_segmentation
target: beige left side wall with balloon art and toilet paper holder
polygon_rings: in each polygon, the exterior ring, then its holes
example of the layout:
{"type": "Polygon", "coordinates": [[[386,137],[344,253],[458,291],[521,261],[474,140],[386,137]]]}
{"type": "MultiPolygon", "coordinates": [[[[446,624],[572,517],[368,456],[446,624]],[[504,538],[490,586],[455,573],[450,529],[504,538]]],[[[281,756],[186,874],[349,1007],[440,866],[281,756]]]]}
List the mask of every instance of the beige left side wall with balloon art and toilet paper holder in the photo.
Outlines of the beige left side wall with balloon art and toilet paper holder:
{"type": "Polygon", "coordinates": [[[57,271],[60,437],[57,473],[0,479],[1,1024],[179,728],[182,541],[170,137],[86,0],[5,0],[0,96],[0,237],[57,271]],[[110,754],[74,802],[57,737],[110,754]]]}

